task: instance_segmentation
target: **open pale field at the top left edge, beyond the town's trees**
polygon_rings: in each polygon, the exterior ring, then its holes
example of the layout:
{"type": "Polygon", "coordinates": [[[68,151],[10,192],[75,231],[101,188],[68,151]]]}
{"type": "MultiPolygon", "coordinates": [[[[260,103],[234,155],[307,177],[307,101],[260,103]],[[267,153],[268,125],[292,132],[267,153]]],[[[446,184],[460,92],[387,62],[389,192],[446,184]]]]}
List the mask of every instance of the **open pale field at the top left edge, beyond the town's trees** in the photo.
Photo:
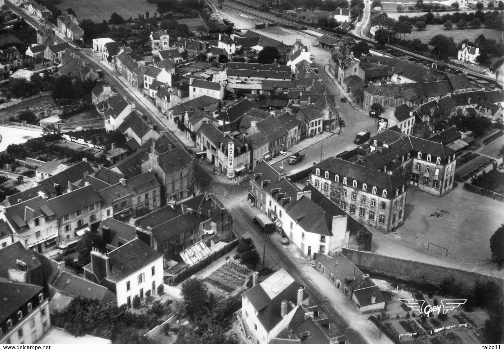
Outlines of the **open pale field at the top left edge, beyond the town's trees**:
{"type": "Polygon", "coordinates": [[[62,0],[56,6],[61,10],[69,7],[74,9],[80,21],[90,19],[95,22],[108,21],[113,12],[118,13],[125,20],[130,17],[135,18],[138,14],[145,16],[146,11],[154,17],[154,12],[156,12],[156,5],[149,4],[145,0],[62,0]]]}

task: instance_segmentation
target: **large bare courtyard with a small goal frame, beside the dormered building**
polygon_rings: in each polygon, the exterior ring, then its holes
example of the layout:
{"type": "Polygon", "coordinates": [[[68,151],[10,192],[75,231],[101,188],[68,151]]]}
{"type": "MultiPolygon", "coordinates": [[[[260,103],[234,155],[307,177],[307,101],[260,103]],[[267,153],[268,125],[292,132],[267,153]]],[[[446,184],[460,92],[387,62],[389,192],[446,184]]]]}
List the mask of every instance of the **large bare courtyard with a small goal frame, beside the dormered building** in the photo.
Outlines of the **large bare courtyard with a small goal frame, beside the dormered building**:
{"type": "Polygon", "coordinates": [[[503,212],[504,203],[465,191],[462,185],[442,198],[409,190],[404,225],[388,234],[371,229],[371,250],[500,277],[489,261],[489,239],[504,223],[503,212]]]}

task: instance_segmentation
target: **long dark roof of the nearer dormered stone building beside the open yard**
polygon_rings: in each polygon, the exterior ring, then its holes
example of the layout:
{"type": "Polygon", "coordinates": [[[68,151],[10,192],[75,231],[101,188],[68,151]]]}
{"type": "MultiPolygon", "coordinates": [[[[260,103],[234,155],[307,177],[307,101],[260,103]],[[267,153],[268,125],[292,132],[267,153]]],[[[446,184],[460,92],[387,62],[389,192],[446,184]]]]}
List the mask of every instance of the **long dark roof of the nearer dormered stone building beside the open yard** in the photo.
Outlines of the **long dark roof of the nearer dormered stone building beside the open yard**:
{"type": "Polygon", "coordinates": [[[321,174],[328,170],[330,179],[334,179],[335,175],[338,174],[341,183],[343,183],[343,178],[347,177],[348,186],[352,186],[353,180],[357,180],[357,188],[362,188],[362,184],[367,184],[369,192],[371,192],[373,186],[376,186],[380,190],[387,190],[387,198],[394,198],[395,190],[400,189],[402,185],[406,185],[405,180],[386,172],[336,157],[328,157],[314,165],[313,174],[316,168],[320,168],[321,174]]]}

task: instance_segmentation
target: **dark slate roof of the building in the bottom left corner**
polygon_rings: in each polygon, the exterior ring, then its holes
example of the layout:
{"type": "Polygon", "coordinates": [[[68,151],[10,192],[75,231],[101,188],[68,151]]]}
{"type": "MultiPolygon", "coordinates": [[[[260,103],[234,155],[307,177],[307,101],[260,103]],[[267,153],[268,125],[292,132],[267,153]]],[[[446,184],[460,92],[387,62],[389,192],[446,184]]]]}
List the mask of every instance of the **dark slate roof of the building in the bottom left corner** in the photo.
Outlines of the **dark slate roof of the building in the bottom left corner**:
{"type": "Polygon", "coordinates": [[[0,278],[0,322],[5,322],[42,290],[40,286],[0,278]]]}

